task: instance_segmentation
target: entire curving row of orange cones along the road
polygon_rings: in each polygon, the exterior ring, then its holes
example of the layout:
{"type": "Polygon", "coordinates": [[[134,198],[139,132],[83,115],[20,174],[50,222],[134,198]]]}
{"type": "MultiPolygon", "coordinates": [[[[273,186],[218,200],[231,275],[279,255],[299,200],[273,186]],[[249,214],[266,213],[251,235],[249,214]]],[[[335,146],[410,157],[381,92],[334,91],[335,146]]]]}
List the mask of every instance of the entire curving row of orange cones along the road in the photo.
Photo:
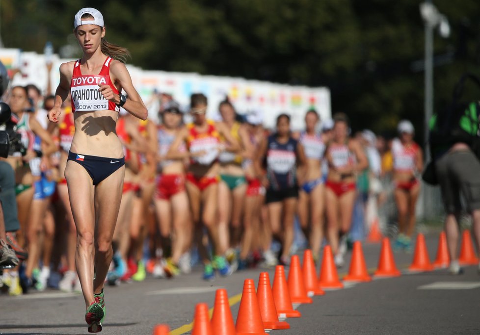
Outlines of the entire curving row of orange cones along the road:
{"type": "MultiPolygon", "coordinates": [[[[267,272],[260,274],[258,289],[255,292],[253,279],[246,279],[240,301],[237,323],[234,325],[232,313],[228,303],[227,291],[218,289],[215,295],[212,320],[209,320],[208,306],[205,303],[197,304],[193,321],[192,335],[264,335],[265,329],[289,329],[290,325],[279,318],[300,317],[298,310],[293,309],[293,303],[310,304],[309,296],[324,294],[322,288],[342,288],[343,283],[338,279],[333,255],[329,246],[326,246],[320,269],[320,278],[317,279],[315,264],[310,250],[305,250],[303,269],[300,267],[298,256],[291,259],[288,282],[283,266],[275,268],[273,287],[267,272]]],[[[461,264],[476,264],[479,259],[475,255],[469,231],[463,232],[459,262],[461,264]]],[[[418,234],[414,259],[409,267],[410,271],[430,271],[434,267],[446,267],[449,264],[447,241],[445,233],[440,234],[437,257],[430,263],[423,234],[418,234]]],[[[390,240],[383,238],[378,268],[375,277],[400,276],[395,265],[390,240]]],[[[360,242],[353,245],[352,259],[348,275],[344,281],[368,282],[365,259],[360,242]]],[[[154,335],[167,335],[167,325],[158,325],[154,335]]]]}

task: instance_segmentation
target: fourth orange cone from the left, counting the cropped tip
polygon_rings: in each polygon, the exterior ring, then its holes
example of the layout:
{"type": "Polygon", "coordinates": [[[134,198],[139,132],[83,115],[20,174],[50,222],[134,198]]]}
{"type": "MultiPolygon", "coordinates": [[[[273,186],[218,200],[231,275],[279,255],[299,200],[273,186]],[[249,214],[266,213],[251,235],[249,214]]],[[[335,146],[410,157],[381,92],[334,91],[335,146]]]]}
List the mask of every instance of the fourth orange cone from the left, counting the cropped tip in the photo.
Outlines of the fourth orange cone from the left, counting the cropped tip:
{"type": "Polygon", "coordinates": [[[267,335],[258,306],[253,279],[245,279],[236,325],[237,335],[267,335]]]}

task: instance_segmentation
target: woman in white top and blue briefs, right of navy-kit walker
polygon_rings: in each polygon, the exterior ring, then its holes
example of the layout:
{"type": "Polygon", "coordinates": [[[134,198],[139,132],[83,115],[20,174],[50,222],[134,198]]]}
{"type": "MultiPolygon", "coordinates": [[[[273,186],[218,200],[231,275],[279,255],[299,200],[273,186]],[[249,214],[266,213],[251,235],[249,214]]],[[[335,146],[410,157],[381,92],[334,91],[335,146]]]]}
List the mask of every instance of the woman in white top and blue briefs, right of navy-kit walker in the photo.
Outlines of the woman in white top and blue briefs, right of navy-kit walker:
{"type": "Polygon", "coordinates": [[[321,167],[326,136],[315,129],[319,121],[317,111],[310,109],[305,115],[305,130],[297,135],[306,156],[305,182],[300,187],[298,198],[298,220],[305,237],[310,241],[315,260],[319,257],[323,239],[325,208],[325,186],[321,167]]]}

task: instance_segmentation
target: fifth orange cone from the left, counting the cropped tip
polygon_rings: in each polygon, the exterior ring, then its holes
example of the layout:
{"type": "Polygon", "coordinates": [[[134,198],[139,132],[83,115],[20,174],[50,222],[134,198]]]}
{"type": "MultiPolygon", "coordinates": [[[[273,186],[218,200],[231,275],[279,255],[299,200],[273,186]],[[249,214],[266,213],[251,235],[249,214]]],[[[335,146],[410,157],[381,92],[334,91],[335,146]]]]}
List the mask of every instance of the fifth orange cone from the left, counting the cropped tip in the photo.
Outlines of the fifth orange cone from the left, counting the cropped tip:
{"type": "Polygon", "coordinates": [[[277,309],[273,301],[268,272],[260,273],[257,287],[257,300],[265,329],[290,329],[290,325],[287,322],[278,321],[277,309]]]}

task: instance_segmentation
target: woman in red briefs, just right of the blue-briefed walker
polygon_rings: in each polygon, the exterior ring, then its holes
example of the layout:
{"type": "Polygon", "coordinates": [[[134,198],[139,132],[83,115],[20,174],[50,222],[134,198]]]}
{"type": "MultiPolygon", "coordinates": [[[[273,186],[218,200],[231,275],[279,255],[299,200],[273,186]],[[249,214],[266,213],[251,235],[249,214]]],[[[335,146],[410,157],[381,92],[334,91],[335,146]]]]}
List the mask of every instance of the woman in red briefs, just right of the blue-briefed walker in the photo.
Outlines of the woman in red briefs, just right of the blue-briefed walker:
{"type": "Polygon", "coordinates": [[[335,264],[341,267],[347,252],[346,239],[355,203],[356,174],[368,167],[368,160],[360,143],[348,136],[347,115],[337,113],[333,121],[333,136],[326,149],[325,204],[328,241],[335,255],[335,264]]]}

